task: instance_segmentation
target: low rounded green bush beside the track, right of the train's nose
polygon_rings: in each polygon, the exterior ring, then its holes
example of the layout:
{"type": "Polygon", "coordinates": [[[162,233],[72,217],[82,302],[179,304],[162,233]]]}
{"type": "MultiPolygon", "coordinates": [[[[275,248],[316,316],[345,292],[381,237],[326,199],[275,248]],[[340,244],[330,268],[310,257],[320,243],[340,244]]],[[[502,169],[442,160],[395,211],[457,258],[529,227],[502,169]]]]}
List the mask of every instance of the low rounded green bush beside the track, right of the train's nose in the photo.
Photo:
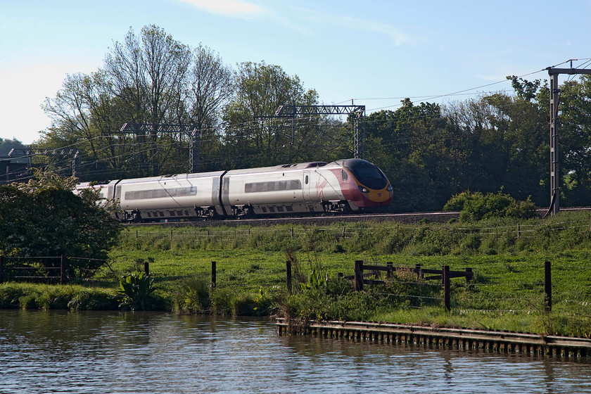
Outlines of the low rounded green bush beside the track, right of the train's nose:
{"type": "Polygon", "coordinates": [[[496,194],[463,191],[453,196],[443,210],[460,211],[459,220],[462,222],[478,222],[491,217],[530,219],[536,215],[536,207],[529,198],[516,201],[502,191],[496,194]]]}

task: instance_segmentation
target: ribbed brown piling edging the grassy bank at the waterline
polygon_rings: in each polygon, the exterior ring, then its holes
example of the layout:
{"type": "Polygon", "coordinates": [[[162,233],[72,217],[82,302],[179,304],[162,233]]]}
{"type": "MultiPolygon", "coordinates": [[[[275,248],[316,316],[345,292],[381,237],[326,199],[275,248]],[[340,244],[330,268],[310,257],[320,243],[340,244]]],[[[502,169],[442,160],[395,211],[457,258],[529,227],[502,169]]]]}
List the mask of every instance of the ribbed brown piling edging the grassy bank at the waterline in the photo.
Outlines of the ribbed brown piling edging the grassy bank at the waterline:
{"type": "Polygon", "coordinates": [[[409,343],[464,350],[551,355],[556,357],[591,357],[591,339],[544,336],[535,333],[485,331],[473,329],[433,328],[407,324],[371,322],[310,322],[293,326],[277,319],[281,335],[312,335],[325,338],[347,338],[353,341],[409,343]]]}

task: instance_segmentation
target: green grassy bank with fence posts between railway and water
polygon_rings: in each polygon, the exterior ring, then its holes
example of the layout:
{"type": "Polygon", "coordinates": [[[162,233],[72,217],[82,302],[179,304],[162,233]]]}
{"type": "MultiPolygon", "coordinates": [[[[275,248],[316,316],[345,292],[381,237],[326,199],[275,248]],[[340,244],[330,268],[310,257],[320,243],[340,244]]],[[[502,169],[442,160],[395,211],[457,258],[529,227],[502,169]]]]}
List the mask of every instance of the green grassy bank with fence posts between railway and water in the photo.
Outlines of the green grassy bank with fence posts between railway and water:
{"type": "Polygon", "coordinates": [[[155,291],[147,305],[153,309],[590,336],[590,230],[589,212],[469,225],[130,229],[109,264],[88,280],[69,286],[3,284],[0,307],[117,309],[118,280],[149,261],[155,291]],[[292,295],[286,260],[293,263],[292,295]],[[351,281],[339,277],[353,274],[355,260],[399,268],[385,284],[355,292],[351,281]],[[552,262],[552,312],[545,312],[545,261],[552,262]],[[475,276],[469,284],[452,279],[452,308],[445,312],[443,286],[413,274],[417,264],[471,267],[475,276]]]}

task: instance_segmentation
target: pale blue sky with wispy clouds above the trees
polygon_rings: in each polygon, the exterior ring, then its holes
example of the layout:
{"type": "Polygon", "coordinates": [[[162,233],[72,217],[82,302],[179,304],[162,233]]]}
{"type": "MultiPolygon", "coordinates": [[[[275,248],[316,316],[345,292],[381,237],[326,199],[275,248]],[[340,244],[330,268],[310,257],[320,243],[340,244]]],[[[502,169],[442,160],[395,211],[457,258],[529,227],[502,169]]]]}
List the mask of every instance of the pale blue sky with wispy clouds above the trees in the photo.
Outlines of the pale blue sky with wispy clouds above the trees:
{"type": "MultiPolygon", "coordinates": [[[[591,58],[591,0],[0,0],[0,137],[51,124],[40,106],[67,74],[91,73],[132,27],[217,51],[235,67],[279,65],[326,104],[395,110],[511,90],[507,75],[591,58]],[[499,82],[499,83],[497,83],[499,82]],[[455,92],[462,95],[452,96],[455,92]]],[[[573,62],[573,66],[585,61],[573,62]]],[[[562,67],[568,67],[563,65],[562,67]]],[[[566,76],[562,77],[564,80],[566,76]]]]}

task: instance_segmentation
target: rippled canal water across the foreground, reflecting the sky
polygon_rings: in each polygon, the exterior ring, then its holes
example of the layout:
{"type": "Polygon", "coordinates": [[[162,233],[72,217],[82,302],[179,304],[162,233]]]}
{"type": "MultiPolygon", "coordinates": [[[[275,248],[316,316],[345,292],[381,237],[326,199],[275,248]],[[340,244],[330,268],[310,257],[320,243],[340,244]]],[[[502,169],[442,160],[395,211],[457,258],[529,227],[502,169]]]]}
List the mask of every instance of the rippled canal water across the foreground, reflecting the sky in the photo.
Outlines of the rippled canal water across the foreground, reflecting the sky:
{"type": "Polygon", "coordinates": [[[0,393],[591,393],[591,362],[277,336],[265,319],[0,310],[0,393]]]}

